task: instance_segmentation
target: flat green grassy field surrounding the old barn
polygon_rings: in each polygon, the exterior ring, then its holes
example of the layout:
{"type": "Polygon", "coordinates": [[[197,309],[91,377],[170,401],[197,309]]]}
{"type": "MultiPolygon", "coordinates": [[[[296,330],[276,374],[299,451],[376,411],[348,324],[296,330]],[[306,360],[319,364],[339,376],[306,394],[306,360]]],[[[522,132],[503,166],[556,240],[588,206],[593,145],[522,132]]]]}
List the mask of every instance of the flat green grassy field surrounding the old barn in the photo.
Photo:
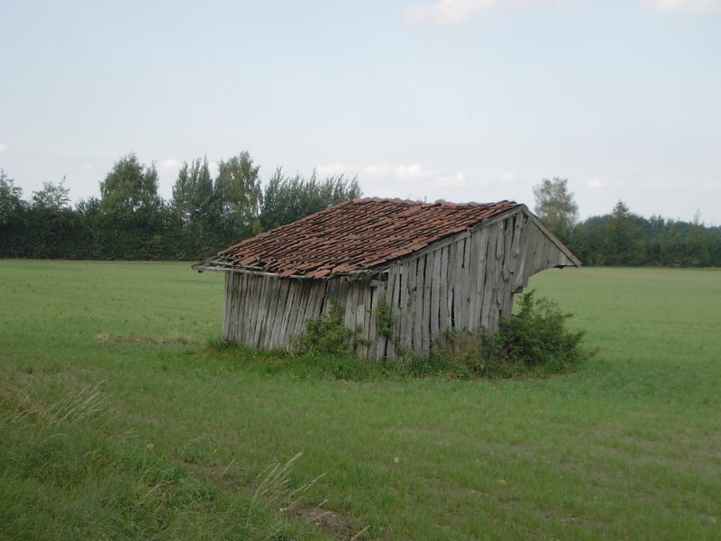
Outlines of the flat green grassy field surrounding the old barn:
{"type": "Polygon", "coordinates": [[[535,276],[598,353],[522,381],[214,349],[222,279],[0,261],[0,538],[721,538],[721,271],[535,276]]]}

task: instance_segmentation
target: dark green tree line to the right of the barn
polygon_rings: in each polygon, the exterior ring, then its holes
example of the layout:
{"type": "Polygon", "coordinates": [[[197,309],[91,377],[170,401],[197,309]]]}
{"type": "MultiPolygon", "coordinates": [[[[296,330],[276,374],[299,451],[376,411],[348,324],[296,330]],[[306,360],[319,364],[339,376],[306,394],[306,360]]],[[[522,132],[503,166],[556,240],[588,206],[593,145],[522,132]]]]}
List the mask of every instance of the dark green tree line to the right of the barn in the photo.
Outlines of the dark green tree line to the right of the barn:
{"type": "Polygon", "coordinates": [[[636,215],[623,202],[605,215],[579,221],[568,179],[543,179],[534,212],[591,266],[721,267],[721,227],[636,215]]]}

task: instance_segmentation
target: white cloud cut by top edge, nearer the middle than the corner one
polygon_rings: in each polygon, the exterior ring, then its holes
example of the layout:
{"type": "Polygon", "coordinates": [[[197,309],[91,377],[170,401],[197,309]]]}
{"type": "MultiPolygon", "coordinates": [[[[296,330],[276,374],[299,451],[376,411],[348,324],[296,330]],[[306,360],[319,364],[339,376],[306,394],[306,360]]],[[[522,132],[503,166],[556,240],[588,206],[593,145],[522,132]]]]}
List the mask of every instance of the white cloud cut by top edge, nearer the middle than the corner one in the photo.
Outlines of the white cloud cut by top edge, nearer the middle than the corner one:
{"type": "Polygon", "coordinates": [[[505,5],[559,4],[568,1],[571,0],[440,0],[434,5],[410,7],[404,12],[404,18],[408,23],[461,24],[482,12],[505,5]]]}

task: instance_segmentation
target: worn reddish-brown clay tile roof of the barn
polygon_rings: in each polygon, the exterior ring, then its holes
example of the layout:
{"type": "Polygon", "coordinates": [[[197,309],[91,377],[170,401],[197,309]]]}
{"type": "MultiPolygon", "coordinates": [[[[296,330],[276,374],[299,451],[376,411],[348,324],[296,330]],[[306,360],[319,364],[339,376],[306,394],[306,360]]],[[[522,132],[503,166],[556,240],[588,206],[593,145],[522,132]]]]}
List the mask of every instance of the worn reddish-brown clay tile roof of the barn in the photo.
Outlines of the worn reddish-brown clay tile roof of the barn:
{"type": "Polygon", "coordinates": [[[233,244],[214,260],[226,268],[252,264],[252,271],[308,278],[370,271],[520,206],[353,199],[233,244]]]}

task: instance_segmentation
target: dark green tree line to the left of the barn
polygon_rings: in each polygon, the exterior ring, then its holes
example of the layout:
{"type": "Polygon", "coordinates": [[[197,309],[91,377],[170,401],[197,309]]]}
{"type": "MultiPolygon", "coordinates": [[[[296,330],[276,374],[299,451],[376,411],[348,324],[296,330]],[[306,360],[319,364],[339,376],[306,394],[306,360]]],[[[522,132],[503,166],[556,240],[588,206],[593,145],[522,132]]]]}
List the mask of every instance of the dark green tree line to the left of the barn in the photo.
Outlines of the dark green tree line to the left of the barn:
{"type": "Polygon", "coordinates": [[[75,260],[198,260],[327,206],[360,197],[358,180],[319,179],[275,170],[264,187],[243,151],[218,162],[183,163],[169,201],[158,194],[155,164],[134,153],[100,183],[100,197],[70,206],[65,179],[23,190],[0,170],[0,257],[75,260]]]}

